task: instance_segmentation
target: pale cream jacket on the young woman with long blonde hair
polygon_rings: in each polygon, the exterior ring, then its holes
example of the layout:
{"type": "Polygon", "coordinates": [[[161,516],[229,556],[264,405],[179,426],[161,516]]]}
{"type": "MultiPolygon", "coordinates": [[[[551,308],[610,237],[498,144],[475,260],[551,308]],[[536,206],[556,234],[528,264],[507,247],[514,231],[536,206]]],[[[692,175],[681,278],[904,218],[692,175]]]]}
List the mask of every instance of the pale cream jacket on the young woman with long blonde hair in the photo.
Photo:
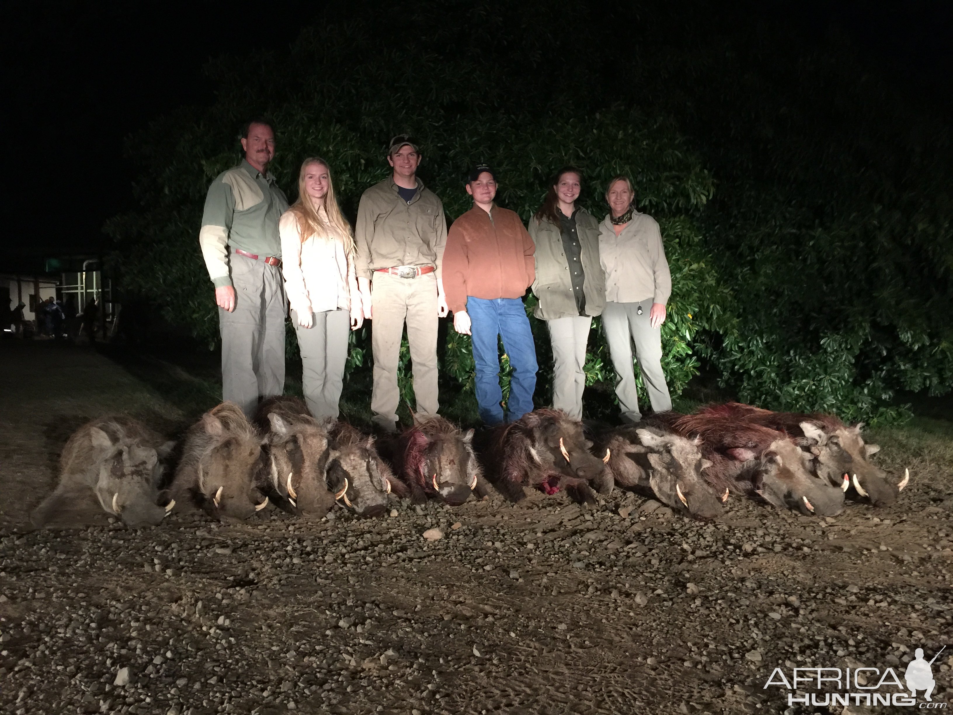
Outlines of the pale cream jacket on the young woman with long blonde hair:
{"type": "Polygon", "coordinates": [[[299,316],[350,310],[351,296],[357,296],[354,260],[345,253],[344,236],[328,222],[324,209],[319,215],[330,236],[312,235],[304,243],[294,212],[285,212],[278,222],[285,292],[299,316]]]}

